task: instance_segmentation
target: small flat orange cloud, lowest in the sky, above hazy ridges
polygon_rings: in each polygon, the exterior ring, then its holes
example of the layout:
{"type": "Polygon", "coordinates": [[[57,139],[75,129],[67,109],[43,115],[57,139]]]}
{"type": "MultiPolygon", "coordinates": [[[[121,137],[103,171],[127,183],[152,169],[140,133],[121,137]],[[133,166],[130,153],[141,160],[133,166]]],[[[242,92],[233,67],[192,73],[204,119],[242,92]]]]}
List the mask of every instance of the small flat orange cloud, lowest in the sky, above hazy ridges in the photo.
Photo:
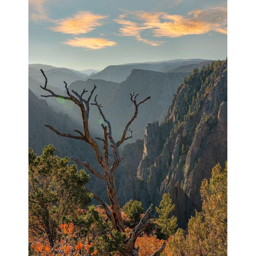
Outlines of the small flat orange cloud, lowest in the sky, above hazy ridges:
{"type": "Polygon", "coordinates": [[[75,39],[69,39],[64,44],[68,44],[73,47],[84,47],[85,49],[98,50],[109,46],[116,45],[114,41],[108,41],[105,38],[90,38],[90,37],[75,37],[75,39]]]}

